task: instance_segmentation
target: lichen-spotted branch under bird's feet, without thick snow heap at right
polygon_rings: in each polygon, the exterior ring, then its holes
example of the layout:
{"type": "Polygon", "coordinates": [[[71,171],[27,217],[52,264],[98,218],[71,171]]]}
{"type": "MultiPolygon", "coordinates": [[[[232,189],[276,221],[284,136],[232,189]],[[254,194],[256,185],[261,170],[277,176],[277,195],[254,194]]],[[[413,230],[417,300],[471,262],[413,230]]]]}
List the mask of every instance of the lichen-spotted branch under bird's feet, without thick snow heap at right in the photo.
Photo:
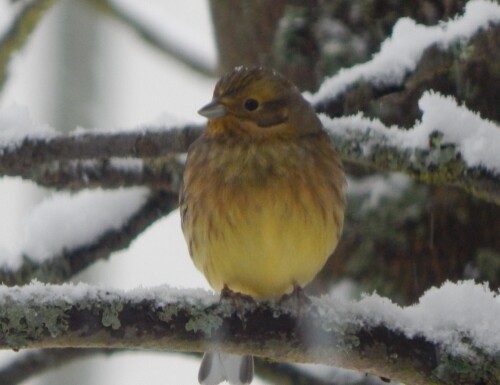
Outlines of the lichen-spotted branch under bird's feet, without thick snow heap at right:
{"type": "Polygon", "coordinates": [[[79,285],[0,290],[0,348],[220,349],[288,362],[315,362],[412,384],[499,384],[500,356],[452,356],[422,336],[408,337],[361,313],[313,300],[297,318],[289,299],[218,302],[199,291],[158,288],[124,294],[79,285]],[[481,375],[470,365],[481,365],[481,375]],[[457,369],[459,368],[460,369],[457,369]],[[460,371],[462,370],[462,371],[460,371]]]}

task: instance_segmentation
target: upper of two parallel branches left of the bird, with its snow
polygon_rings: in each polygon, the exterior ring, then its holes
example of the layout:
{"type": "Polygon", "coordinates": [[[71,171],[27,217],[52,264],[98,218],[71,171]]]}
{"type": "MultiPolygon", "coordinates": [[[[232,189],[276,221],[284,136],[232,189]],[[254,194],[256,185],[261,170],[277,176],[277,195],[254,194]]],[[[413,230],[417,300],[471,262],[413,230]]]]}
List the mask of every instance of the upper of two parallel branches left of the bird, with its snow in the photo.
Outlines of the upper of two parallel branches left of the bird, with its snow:
{"type": "Polygon", "coordinates": [[[0,173],[14,175],[40,163],[103,158],[153,158],[185,152],[201,126],[152,127],[135,131],[77,129],[69,134],[32,121],[16,105],[0,110],[0,173]]]}

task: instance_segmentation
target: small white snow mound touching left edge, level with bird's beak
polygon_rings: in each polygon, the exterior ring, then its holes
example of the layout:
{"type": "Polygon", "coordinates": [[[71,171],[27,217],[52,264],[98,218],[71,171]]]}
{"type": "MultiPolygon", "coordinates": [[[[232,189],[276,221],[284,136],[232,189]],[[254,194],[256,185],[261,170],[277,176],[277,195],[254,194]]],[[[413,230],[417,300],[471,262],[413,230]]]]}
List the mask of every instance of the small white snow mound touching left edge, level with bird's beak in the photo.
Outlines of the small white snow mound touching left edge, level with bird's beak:
{"type": "Polygon", "coordinates": [[[52,127],[35,123],[26,107],[12,103],[5,108],[0,108],[0,154],[2,147],[16,147],[24,139],[46,140],[56,135],[52,127]]]}

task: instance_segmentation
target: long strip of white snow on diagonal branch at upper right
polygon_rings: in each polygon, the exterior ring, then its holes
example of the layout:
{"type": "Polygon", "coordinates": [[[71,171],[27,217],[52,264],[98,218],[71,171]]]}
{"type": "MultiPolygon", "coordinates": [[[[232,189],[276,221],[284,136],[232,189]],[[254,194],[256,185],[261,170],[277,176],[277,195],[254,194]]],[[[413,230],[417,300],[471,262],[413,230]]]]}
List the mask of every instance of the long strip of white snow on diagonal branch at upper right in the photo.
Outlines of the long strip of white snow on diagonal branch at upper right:
{"type": "Polygon", "coordinates": [[[305,96],[313,104],[335,99],[360,80],[378,86],[399,85],[416,68],[425,49],[432,45],[446,48],[498,22],[500,4],[485,0],[468,2],[463,16],[436,26],[420,25],[409,18],[401,18],[394,25],[392,36],[382,43],[380,51],[370,61],[340,70],[327,79],[316,94],[305,96]]]}

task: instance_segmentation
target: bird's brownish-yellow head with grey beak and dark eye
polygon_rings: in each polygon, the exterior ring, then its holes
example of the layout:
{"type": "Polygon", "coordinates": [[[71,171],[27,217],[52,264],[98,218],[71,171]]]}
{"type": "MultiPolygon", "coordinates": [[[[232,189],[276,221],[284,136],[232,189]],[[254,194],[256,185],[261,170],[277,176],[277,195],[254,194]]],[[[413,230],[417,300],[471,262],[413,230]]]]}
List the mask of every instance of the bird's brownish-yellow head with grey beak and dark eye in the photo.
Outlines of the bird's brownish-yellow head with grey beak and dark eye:
{"type": "Polygon", "coordinates": [[[321,129],[311,105],[276,71],[237,67],[222,76],[212,101],[198,111],[214,134],[294,136],[321,129]]]}

